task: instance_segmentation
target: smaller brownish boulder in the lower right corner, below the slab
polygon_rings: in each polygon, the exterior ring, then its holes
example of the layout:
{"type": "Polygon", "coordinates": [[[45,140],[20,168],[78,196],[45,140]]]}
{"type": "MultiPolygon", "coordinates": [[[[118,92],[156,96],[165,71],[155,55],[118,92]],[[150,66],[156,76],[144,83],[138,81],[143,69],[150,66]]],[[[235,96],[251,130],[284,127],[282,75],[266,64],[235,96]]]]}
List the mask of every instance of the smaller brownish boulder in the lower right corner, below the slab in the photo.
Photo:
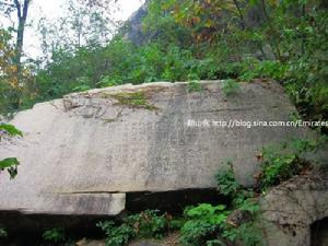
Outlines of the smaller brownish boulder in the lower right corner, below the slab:
{"type": "Polygon", "coordinates": [[[278,238],[280,246],[317,245],[312,242],[311,226],[328,218],[328,172],[281,184],[261,200],[261,209],[268,246],[276,246],[278,238]]]}

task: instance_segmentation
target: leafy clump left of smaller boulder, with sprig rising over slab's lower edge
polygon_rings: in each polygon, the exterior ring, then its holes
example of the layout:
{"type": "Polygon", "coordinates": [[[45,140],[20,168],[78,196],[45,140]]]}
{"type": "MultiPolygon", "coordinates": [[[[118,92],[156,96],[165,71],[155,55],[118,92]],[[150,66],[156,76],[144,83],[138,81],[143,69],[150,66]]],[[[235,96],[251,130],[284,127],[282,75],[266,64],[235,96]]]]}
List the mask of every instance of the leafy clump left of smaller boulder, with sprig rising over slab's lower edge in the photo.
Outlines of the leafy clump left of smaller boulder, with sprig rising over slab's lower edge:
{"type": "Polygon", "coordinates": [[[225,206],[215,207],[207,203],[187,208],[186,223],[180,231],[181,244],[185,246],[230,245],[242,242],[247,246],[261,245],[261,231],[256,224],[259,204],[255,192],[237,183],[230,161],[218,172],[215,178],[220,192],[232,200],[231,210],[226,210],[225,206]],[[229,218],[234,211],[241,211],[248,219],[241,221],[242,224],[233,224],[229,218]]]}

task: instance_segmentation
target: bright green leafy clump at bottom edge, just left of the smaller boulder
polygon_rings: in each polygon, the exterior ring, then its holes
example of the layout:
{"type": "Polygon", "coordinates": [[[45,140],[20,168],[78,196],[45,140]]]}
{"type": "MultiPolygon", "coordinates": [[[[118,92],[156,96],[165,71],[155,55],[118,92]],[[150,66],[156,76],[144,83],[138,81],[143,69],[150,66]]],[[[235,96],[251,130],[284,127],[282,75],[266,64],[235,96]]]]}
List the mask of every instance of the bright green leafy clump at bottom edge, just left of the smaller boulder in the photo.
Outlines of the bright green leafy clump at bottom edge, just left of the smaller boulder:
{"type": "Polygon", "coordinates": [[[243,209],[251,211],[250,221],[245,221],[241,225],[232,225],[229,222],[229,215],[233,211],[225,210],[225,206],[214,207],[202,203],[195,208],[187,208],[186,223],[180,230],[180,243],[184,246],[230,245],[238,241],[246,246],[261,245],[261,231],[255,223],[256,212],[259,210],[257,202],[253,202],[248,208],[238,208],[238,210],[243,209]]]}

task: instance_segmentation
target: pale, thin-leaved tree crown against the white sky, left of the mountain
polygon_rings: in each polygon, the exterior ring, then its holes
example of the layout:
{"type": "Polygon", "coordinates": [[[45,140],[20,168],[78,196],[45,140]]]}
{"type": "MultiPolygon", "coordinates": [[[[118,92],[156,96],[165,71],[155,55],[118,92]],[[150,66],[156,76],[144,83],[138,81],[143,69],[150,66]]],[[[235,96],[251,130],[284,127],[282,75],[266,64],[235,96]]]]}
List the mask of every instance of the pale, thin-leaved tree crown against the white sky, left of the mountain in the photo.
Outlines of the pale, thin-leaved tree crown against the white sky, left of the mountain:
{"type": "Polygon", "coordinates": [[[107,0],[67,0],[63,16],[54,21],[40,19],[38,31],[45,59],[49,60],[56,50],[74,54],[81,47],[96,48],[106,44],[119,25],[113,17],[114,3],[107,0]]]}

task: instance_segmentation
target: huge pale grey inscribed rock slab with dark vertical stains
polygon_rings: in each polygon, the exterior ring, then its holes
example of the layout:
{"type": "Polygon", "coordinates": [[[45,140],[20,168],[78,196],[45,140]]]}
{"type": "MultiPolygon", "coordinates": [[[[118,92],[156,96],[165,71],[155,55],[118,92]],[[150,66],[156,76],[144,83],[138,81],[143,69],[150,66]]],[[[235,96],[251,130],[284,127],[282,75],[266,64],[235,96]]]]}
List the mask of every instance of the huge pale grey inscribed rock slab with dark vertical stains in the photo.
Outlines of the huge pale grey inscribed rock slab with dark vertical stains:
{"type": "Polygon", "coordinates": [[[274,82],[241,83],[229,96],[221,81],[201,86],[128,84],[21,112],[11,124],[24,137],[0,143],[0,159],[21,161],[14,180],[0,175],[0,210],[115,215],[127,192],[215,187],[226,159],[250,185],[262,147],[312,134],[302,127],[239,126],[290,120],[295,108],[274,82]]]}

